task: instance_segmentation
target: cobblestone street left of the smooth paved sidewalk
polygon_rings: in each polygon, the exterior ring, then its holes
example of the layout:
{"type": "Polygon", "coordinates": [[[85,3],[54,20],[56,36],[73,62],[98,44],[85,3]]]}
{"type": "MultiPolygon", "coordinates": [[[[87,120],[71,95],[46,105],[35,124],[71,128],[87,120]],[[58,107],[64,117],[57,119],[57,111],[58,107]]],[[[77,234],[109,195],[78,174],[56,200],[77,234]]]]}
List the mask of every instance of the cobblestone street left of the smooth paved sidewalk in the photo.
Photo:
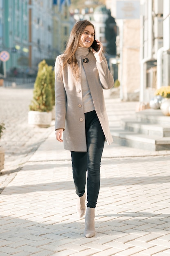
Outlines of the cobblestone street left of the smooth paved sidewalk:
{"type": "Polygon", "coordinates": [[[23,164],[35,152],[54,129],[28,126],[29,104],[33,96],[33,86],[25,88],[0,87],[0,124],[5,130],[0,146],[5,149],[4,170],[1,171],[0,189],[2,190],[15,177],[23,164]]]}

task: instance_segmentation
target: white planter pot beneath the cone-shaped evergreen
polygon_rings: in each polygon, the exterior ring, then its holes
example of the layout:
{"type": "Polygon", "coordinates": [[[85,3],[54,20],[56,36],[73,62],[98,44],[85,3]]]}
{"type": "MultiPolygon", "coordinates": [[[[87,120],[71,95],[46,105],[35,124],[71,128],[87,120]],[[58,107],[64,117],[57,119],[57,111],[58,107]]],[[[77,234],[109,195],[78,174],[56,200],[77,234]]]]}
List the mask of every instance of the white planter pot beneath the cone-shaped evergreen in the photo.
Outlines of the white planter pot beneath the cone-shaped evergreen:
{"type": "Polygon", "coordinates": [[[40,127],[49,127],[51,125],[51,112],[29,111],[28,123],[40,127]]]}

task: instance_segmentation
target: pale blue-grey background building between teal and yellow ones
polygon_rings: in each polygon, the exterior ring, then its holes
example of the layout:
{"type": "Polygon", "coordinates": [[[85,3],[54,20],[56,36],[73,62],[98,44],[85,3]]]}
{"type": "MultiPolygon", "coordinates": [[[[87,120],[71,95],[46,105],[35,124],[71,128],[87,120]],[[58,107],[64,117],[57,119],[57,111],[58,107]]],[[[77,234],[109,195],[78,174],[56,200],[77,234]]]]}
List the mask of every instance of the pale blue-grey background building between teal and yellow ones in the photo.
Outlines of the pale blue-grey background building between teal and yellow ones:
{"type": "Polygon", "coordinates": [[[29,67],[52,58],[52,7],[51,0],[29,0],[29,67]]]}

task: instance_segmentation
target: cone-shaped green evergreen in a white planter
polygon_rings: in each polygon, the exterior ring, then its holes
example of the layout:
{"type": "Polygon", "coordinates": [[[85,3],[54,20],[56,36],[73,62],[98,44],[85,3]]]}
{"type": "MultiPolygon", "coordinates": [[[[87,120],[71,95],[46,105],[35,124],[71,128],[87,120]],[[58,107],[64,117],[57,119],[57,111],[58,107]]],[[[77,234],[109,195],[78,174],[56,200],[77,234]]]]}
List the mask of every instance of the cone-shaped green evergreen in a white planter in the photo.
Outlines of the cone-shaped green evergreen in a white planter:
{"type": "Polygon", "coordinates": [[[49,127],[52,114],[52,92],[49,83],[49,66],[45,60],[38,64],[38,73],[34,83],[33,100],[29,106],[28,122],[31,125],[49,127]]]}

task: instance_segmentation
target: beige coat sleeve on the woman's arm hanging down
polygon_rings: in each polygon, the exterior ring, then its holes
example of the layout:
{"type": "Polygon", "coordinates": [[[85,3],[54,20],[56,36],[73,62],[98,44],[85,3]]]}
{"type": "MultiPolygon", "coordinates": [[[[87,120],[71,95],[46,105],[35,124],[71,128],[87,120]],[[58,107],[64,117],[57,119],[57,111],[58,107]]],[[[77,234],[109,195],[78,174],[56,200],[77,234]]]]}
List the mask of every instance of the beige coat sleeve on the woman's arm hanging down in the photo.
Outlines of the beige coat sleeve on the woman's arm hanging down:
{"type": "Polygon", "coordinates": [[[60,56],[55,61],[55,130],[59,128],[65,129],[66,118],[66,91],[64,88],[60,56]]]}

